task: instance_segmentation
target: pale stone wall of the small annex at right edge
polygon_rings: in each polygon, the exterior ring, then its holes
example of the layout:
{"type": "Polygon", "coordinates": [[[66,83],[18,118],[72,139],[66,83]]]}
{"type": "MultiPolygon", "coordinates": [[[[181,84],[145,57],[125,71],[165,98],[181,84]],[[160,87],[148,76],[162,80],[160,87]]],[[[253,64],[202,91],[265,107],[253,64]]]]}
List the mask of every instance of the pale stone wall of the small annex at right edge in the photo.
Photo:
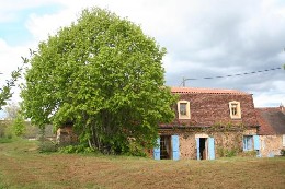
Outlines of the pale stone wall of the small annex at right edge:
{"type": "Polygon", "coordinates": [[[261,144],[261,156],[272,157],[281,155],[281,150],[285,149],[282,146],[282,135],[260,135],[261,144]]]}

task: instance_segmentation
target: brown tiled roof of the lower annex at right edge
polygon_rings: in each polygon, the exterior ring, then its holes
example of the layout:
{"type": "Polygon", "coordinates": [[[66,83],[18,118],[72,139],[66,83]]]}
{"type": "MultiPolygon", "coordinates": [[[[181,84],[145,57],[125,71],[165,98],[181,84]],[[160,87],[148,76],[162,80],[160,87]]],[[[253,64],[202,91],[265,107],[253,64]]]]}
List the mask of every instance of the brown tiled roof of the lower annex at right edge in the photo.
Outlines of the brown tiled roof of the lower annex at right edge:
{"type": "Polygon", "coordinates": [[[255,108],[260,125],[259,134],[285,134],[285,115],[280,107],[255,108]]]}

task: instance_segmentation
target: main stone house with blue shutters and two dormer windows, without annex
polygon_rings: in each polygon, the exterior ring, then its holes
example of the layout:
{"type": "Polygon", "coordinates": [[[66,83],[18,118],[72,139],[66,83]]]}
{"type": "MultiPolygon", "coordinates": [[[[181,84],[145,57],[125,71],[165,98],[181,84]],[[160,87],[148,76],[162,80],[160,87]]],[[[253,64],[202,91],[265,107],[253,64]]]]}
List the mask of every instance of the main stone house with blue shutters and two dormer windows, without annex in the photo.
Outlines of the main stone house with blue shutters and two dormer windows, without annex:
{"type": "Polygon", "coordinates": [[[229,151],[260,154],[251,94],[236,90],[172,87],[175,120],[159,128],[153,158],[214,160],[229,151]]]}

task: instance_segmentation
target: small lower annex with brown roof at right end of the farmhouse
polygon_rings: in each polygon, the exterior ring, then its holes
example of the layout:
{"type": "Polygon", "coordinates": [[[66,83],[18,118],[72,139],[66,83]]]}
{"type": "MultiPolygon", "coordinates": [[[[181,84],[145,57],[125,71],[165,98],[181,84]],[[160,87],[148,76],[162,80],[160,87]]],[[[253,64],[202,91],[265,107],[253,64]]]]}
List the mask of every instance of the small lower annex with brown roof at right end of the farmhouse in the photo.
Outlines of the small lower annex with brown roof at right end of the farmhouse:
{"type": "Polygon", "coordinates": [[[260,125],[260,152],[262,157],[281,155],[285,150],[285,108],[280,107],[255,108],[260,125]]]}

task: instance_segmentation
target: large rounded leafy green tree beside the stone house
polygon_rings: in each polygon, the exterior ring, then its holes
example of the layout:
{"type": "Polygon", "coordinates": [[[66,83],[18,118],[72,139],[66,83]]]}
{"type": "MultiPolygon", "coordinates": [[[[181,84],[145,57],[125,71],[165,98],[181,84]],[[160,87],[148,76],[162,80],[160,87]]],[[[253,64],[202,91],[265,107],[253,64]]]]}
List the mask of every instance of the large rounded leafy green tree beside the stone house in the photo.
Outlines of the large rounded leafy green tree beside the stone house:
{"type": "Polygon", "coordinates": [[[42,42],[21,93],[32,122],[72,122],[80,142],[107,153],[151,147],[169,122],[166,49],[126,19],[99,8],[42,42]],[[135,145],[135,147],[134,147],[135,145]]]}

